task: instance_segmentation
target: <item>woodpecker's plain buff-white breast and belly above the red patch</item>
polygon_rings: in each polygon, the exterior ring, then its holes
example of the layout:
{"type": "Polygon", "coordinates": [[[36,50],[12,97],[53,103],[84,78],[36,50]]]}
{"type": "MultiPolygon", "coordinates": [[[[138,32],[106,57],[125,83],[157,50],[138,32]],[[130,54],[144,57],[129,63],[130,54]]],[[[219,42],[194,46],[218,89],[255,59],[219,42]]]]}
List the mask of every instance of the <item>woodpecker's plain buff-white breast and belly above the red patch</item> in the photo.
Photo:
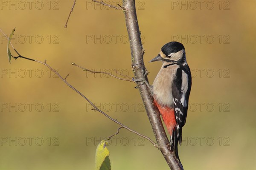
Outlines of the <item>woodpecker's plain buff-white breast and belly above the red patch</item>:
{"type": "Polygon", "coordinates": [[[172,82],[176,77],[176,71],[177,68],[179,68],[179,65],[170,65],[167,68],[163,68],[164,65],[168,64],[166,62],[163,63],[157,77],[154,79],[153,95],[157,103],[172,108],[172,82]]]}

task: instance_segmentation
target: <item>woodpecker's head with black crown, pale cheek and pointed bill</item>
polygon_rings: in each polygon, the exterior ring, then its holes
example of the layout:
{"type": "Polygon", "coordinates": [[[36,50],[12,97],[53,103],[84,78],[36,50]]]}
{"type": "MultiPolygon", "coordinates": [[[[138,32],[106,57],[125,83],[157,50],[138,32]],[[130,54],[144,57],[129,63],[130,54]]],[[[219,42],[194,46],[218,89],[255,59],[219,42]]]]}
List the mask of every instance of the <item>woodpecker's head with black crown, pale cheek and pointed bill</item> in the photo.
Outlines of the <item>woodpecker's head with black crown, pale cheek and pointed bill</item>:
{"type": "Polygon", "coordinates": [[[157,57],[152,59],[150,62],[159,60],[183,64],[184,62],[186,62],[185,48],[183,44],[173,41],[163,45],[157,57]]]}

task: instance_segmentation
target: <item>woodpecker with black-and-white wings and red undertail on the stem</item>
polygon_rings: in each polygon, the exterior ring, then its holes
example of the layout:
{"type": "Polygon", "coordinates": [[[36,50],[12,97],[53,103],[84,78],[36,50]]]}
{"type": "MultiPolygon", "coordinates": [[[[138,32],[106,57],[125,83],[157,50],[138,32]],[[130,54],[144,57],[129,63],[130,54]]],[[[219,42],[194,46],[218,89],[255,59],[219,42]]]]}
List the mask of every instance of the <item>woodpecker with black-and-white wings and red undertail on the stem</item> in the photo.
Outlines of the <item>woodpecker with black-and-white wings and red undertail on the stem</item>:
{"type": "Polygon", "coordinates": [[[186,123],[192,77],[182,43],[168,42],[157,57],[149,62],[162,61],[154,79],[151,94],[170,134],[171,151],[180,162],[178,143],[182,142],[182,127],[186,123]]]}

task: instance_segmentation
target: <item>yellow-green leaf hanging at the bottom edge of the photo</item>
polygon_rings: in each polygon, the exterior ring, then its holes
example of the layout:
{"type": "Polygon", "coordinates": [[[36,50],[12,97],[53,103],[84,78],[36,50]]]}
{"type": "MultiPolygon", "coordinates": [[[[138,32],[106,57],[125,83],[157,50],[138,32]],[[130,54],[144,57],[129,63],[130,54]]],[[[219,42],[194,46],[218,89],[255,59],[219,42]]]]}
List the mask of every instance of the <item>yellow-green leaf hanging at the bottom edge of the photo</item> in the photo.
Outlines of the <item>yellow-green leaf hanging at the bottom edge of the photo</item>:
{"type": "Polygon", "coordinates": [[[111,170],[109,150],[105,140],[101,141],[96,148],[95,170],[111,170]]]}

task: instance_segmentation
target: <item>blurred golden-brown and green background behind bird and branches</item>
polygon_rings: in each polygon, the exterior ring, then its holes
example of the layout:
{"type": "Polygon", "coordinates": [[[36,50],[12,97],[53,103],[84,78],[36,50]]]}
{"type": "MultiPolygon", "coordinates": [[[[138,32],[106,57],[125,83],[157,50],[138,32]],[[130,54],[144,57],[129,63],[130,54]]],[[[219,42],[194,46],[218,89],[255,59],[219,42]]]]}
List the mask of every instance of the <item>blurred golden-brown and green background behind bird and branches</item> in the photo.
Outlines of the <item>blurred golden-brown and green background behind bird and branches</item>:
{"type": "MultiPolygon", "coordinates": [[[[77,0],[1,0],[0,28],[25,56],[47,63],[103,111],[154,139],[135,84],[122,11],[77,0]]],[[[116,5],[121,1],[106,1],[116,5]]],[[[192,91],[180,159],[190,170],[256,169],[256,2],[137,0],[145,66],[153,82],[161,63],[148,63],[167,42],[186,48],[192,91]]],[[[0,168],[94,168],[100,140],[119,127],[47,67],[17,59],[9,64],[0,34],[0,168]]],[[[15,54],[12,51],[12,54],[15,54]]],[[[153,145],[125,129],[108,146],[112,169],[169,169],[153,145]]]]}

